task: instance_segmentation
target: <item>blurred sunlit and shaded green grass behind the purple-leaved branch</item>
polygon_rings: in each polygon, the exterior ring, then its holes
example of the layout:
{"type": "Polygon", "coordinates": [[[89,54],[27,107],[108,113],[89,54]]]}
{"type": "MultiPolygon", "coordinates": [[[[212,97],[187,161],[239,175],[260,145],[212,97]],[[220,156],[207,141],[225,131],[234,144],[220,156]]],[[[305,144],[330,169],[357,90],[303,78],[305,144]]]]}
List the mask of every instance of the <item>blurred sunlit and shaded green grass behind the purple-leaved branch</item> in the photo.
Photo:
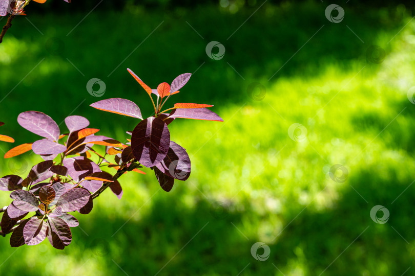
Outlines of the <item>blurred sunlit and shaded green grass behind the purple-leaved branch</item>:
{"type": "MultiPolygon", "coordinates": [[[[172,140],[192,159],[188,181],[165,193],[151,170],[123,176],[122,200],[107,192],[91,215],[76,215],[80,227],[64,251],[47,241],[15,249],[0,239],[0,274],[400,275],[412,267],[415,112],[407,91],[415,24],[399,32],[410,20],[402,6],[365,9],[365,16],[364,8],[344,7],[344,21],[330,24],[325,7],[265,5],[230,38],[256,7],[229,14],[201,6],[174,16],[139,7],[93,12],[68,36],[85,14],[30,15],[43,35],[17,18],[0,44],[0,100],[11,91],[0,103],[0,130],[16,144],[37,139],[16,123],[26,110],[58,124],[73,112],[101,134],[126,139],[137,121],[89,107],[99,99],[85,87],[100,78],[103,98],[133,100],[150,116],[151,103],[127,67],[155,87],[201,66],[175,100],[214,104],[225,122],[175,120],[172,140]],[[224,44],[222,60],[206,56],[212,40],[224,44]],[[386,51],[380,64],[366,61],[372,44],[386,51]],[[253,82],[266,88],[262,101],[248,97],[253,82]],[[306,140],[289,138],[293,123],[306,127],[306,140]],[[344,183],[328,175],[335,164],[349,172],[344,183]],[[378,204],[390,211],[386,224],[370,219],[378,204]],[[251,256],[258,241],[271,248],[267,261],[251,256]]],[[[0,172],[27,171],[35,161],[29,154],[1,160],[0,172]]],[[[7,193],[0,200],[10,201],[7,193]]]]}

